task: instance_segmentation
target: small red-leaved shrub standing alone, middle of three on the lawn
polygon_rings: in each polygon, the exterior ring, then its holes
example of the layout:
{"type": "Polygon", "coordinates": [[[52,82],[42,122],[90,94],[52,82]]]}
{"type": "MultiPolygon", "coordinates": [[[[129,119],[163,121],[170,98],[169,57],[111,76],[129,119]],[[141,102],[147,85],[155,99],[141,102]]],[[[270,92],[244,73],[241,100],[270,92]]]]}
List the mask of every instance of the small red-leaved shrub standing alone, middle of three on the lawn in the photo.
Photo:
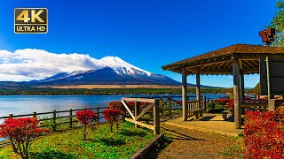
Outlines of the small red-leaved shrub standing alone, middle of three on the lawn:
{"type": "Polygon", "coordinates": [[[75,114],[80,124],[83,125],[83,140],[86,140],[87,134],[98,117],[92,110],[77,111],[75,114]]]}

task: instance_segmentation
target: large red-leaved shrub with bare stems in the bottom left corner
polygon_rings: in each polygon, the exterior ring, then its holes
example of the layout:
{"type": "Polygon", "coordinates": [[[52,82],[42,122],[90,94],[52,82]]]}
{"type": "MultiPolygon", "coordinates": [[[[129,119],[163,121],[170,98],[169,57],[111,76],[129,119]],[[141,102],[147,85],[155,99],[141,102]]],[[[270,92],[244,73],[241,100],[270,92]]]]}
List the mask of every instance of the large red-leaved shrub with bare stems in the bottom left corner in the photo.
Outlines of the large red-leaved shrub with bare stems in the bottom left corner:
{"type": "Polygon", "coordinates": [[[0,125],[0,137],[9,138],[14,153],[20,154],[21,158],[28,158],[31,141],[49,132],[49,129],[38,128],[39,124],[36,117],[10,117],[4,120],[3,125],[0,125]]]}

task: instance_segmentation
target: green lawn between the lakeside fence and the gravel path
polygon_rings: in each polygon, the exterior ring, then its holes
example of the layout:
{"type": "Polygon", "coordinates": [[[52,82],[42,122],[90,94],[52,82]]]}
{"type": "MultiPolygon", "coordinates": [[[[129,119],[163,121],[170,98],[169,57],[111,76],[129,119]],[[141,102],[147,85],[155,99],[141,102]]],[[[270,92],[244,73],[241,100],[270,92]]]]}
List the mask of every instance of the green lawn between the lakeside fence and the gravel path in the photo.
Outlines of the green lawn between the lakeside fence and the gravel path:
{"type": "MultiPolygon", "coordinates": [[[[99,125],[83,140],[81,129],[66,133],[53,133],[35,140],[31,146],[31,158],[130,158],[143,148],[154,134],[145,129],[135,129],[130,123],[122,123],[115,133],[108,125],[99,125]]],[[[20,158],[12,148],[0,149],[0,159],[20,158]]]]}

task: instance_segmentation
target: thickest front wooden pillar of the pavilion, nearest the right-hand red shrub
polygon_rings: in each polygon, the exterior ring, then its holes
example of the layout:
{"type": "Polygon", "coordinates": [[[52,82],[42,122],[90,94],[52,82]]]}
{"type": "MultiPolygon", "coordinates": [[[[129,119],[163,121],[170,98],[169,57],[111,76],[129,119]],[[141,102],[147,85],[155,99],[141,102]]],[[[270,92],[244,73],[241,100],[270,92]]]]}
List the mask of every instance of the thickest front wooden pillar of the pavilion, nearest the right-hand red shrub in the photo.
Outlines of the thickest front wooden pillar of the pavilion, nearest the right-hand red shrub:
{"type": "Polygon", "coordinates": [[[239,85],[240,85],[239,60],[234,57],[233,58],[233,102],[234,102],[234,124],[236,129],[241,128],[239,85]]]}

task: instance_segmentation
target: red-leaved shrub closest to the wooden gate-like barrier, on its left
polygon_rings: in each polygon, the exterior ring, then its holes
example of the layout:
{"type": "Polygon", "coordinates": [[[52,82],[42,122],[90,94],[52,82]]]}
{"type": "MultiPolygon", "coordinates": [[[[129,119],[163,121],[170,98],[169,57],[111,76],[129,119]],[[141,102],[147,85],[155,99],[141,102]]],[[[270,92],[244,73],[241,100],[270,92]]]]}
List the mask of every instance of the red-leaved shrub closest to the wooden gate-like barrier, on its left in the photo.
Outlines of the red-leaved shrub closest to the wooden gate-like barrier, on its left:
{"type": "Polygon", "coordinates": [[[118,129],[119,118],[124,115],[122,110],[103,110],[104,118],[110,126],[110,132],[113,132],[113,125],[116,124],[116,129],[118,129]]]}

